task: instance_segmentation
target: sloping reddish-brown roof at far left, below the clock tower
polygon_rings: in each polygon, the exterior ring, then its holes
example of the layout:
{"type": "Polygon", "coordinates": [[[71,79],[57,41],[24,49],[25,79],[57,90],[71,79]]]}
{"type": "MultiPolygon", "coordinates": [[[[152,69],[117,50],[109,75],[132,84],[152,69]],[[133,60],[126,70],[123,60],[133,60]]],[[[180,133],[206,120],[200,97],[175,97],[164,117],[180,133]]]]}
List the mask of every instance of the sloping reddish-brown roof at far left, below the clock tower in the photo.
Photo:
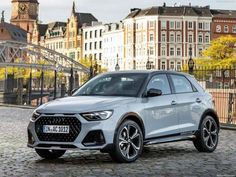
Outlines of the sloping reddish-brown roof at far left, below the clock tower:
{"type": "Polygon", "coordinates": [[[13,40],[20,42],[27,41],[27,31],[23,30],[22,28],[6,22],[0,23],[0,27],[4,27],[6,31],[11,35],[11,38],[13,40]]]}

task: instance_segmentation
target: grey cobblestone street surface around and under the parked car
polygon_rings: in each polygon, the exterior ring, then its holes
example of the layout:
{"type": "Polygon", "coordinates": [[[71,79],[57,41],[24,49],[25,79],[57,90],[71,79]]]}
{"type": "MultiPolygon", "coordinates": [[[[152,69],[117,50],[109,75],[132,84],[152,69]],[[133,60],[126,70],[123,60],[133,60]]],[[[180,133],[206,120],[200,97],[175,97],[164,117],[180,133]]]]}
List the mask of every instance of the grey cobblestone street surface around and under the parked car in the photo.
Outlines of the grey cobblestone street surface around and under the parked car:
{"type": "Polygon", "coordinates": [[[54,161],[27,148],[30,109],[0,107],[0,176],[236,176],[236,131],[221,130],[214,153],[199,153],[192,142],[145,147],[135,163],[117,164],[99,151],[69,151],[54,161]]]}

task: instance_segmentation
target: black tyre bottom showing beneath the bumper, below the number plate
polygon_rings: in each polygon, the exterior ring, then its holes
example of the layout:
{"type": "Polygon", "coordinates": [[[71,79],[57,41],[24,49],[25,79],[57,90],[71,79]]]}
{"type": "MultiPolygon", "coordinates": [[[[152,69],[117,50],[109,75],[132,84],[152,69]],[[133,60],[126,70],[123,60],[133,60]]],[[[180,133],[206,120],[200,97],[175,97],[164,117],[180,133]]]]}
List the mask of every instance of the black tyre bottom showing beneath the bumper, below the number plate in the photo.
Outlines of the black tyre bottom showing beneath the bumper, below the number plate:
{"type": "Polygon", "coordinates": [[[65,154],[65,150],[35,149],[36,153],[44,159],[57,159],[65,154]]]}

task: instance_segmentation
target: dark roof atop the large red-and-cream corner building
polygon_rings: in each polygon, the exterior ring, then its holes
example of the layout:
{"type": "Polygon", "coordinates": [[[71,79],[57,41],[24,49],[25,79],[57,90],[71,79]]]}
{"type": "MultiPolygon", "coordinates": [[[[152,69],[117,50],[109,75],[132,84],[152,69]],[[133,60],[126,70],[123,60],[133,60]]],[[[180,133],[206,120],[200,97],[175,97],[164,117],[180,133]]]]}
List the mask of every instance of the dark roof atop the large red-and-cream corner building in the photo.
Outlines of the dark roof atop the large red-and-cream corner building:
{"type": "Polygon", "coordinates": [[[201,16],[212,17],[209,6],[195,7],[195,6],[178,6],[178,7],[150,7],[146,9],[132,9],[130,14],[126,17],[134,18],[139,16],[151,16],[151,15],[163,15],[163,16],[201,16]]]}

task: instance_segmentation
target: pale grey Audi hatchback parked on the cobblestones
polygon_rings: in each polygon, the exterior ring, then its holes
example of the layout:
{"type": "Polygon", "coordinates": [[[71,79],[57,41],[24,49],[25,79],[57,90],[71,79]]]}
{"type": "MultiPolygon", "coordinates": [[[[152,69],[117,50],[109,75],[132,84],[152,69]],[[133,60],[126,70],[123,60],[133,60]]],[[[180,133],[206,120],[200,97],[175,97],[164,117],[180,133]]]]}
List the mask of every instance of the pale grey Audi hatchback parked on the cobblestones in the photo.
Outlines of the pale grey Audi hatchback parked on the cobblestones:
{"type": "Polygon", "coordinates": [[[101,74],[71,97],[37,108],[28,147],[42,158],[66,150],[100,150],[133,162],[144,145],[191,140],[200,152],[218,144],[219,120],[212,96],[194,77],[170,71],[101,74]]]}

